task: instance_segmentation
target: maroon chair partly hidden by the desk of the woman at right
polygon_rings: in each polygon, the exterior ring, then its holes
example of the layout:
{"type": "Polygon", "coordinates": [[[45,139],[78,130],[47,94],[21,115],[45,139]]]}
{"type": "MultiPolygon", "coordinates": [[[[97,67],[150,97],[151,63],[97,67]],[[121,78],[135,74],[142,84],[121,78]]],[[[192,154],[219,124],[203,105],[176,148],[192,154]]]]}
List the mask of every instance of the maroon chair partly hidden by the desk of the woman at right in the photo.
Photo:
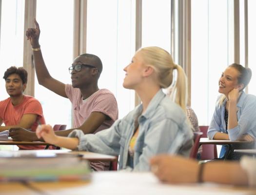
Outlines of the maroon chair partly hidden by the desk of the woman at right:
{"type": "MultiPolygon", "coordinates": [[[[207,137],[209,126],[199,126],[200,131],[203,133],[202,137],[207,137]]],[[[214,144],[203,144],[203,151],[201,153],[201,160],[212,160],[217,158],[217,146],[214,144]]]]}

